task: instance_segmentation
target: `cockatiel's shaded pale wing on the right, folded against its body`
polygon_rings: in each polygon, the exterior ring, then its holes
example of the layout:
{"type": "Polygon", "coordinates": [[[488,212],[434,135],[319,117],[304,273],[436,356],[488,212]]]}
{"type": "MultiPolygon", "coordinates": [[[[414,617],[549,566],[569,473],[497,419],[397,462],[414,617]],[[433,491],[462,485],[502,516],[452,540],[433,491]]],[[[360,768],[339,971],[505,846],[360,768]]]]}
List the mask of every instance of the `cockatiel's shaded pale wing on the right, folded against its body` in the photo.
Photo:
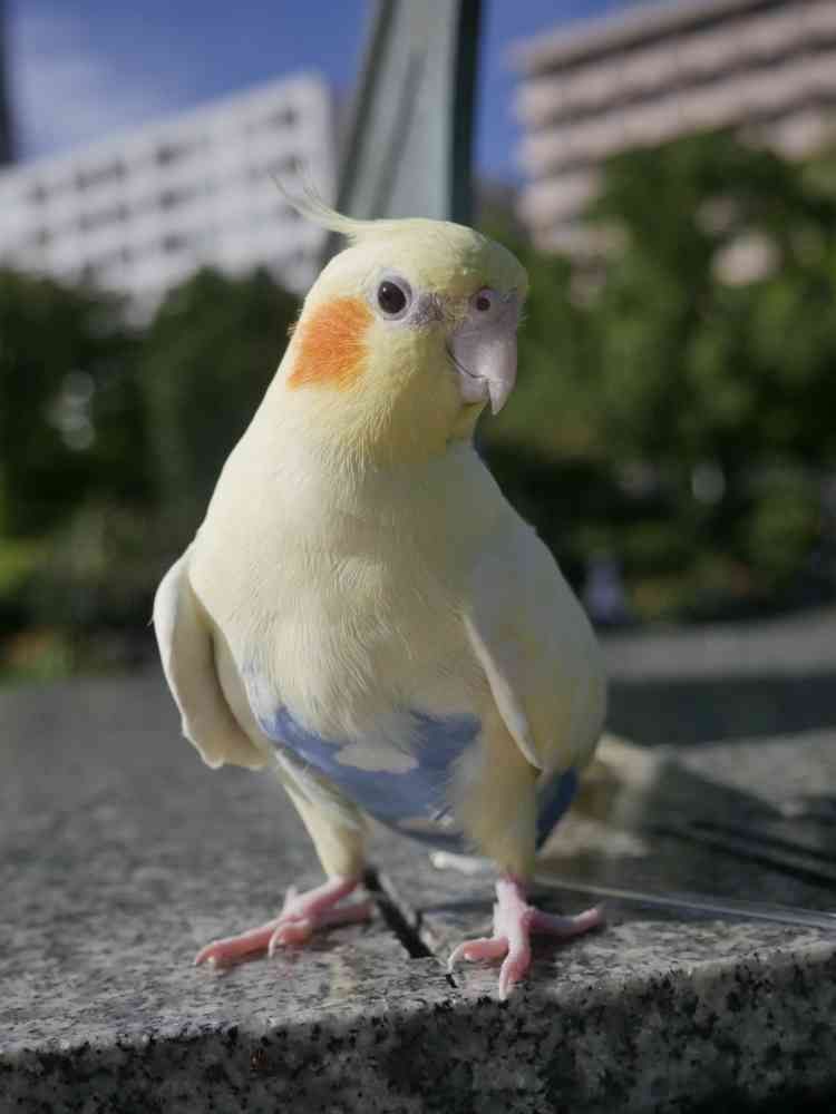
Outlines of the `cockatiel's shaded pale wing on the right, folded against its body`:
{"type": "Polygon", "coordinates": [[[522,519],[506,520],[479,559],[465,623],[527,761],[544,773],[581,770],[606,706],[600,651],[554,558],[522,519]]]}

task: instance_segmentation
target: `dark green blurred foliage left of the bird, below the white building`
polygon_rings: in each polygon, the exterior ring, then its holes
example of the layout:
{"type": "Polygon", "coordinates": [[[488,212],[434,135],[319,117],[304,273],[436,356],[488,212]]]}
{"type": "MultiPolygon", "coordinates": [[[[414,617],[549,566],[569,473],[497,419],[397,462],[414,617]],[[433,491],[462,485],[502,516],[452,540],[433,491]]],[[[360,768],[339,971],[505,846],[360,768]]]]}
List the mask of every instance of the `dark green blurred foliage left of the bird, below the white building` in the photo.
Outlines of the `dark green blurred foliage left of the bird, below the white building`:
{"type": "Polygon", "coordinates": [[[146,627],[297,310],[265,272],[203,271],[133,333],[100,293],[0,275],[0,633],[70,632],[39,649],[66,662],[146,627]]]}

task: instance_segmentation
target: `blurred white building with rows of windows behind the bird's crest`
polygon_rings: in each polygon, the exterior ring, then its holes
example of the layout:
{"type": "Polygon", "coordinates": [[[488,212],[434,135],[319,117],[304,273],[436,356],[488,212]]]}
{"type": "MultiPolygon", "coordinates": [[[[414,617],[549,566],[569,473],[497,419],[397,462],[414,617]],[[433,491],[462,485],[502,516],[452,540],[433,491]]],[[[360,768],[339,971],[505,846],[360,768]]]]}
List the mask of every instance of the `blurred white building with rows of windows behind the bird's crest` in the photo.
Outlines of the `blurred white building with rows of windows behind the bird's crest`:
{"type": "Polygon", "coordinates": [[[140,313],[202,265],[264,265],[301,291],[323,234],[273,180],[300,172],[333,196],[331,95],[312,75],[0,173],[0,263],[126,292],[140,313]]]}

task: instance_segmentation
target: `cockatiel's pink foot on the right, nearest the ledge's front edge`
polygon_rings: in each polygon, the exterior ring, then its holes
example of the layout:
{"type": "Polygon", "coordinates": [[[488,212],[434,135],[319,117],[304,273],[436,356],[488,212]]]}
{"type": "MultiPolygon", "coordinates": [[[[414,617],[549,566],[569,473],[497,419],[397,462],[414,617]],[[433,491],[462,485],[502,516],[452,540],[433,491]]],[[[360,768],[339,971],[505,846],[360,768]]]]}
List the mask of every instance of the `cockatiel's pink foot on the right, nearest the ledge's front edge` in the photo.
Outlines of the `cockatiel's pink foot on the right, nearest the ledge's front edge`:
{"type": "Polygon", "coordinates": [[[499,971],[499,1000],[504,1001],[515,983],[528,970],[532,958],[528,937],[532,932],[554,936],[560,940],[571,940],[591,928],[604,924],[601,908],[586,909],[574,917],[556,917],[541,912],[526,903],[525,890],[516,878],[500,878],[496,883],[494,906],[494,935],[480,940],[465,940],[447,960],[447,969],[453,970],[460,959],[502,959],[499,971]]]}

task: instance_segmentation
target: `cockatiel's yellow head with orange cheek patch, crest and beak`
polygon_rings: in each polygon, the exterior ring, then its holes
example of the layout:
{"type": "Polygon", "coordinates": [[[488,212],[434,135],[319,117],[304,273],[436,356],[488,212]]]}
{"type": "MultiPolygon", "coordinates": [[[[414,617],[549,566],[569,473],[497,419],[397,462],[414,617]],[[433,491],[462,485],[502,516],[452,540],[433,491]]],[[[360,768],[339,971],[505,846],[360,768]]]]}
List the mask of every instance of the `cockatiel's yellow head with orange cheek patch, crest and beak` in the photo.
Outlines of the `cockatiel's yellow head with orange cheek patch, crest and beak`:
{"type": "Polygon", "coordinates": [[[364,456],[434,456],[496,413],[516,378],[527,290],[519,262],[443,221],[353,221],[308,198],[349,240],[305,299],[276,384],[321,438],[364,456]]]}

